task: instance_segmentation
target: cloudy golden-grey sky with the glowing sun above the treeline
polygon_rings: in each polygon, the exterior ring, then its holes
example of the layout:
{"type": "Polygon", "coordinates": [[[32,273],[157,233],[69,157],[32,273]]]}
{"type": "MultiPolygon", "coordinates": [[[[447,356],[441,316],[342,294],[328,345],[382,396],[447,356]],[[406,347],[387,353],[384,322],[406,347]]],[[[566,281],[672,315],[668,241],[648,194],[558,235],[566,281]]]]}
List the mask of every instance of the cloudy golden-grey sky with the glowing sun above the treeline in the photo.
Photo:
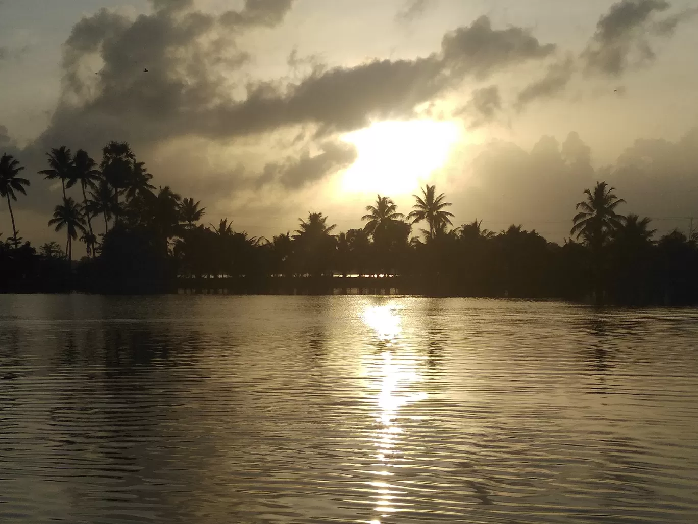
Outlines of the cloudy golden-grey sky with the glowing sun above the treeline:
{"type": "Polygon", "coordinates": [[[408,212],[426,183],[456,226],[562,242],[584,188],[607,180],[623,212],[688,230],[697,7],[3,0],[0,152],[32,182],[17,227],[34,245],[62,238],[46,225],[59,188],[36,174],[51,147],[99,159],[125,140],[156,186],[202,202],[205,224],[267,238],[309,211],[359,227],[378,193],[408,212]]]}

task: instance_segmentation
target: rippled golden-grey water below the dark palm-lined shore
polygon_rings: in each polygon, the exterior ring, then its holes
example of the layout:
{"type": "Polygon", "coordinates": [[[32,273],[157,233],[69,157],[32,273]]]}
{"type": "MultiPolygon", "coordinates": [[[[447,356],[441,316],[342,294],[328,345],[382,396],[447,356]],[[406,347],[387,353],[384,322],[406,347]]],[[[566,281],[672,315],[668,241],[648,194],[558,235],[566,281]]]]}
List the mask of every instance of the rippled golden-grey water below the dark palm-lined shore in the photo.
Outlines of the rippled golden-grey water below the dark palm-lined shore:
{"type": "Polygon", "coordinates": [[[0,297],[3,523],[695,523],[698,312],[0,297]]]}

